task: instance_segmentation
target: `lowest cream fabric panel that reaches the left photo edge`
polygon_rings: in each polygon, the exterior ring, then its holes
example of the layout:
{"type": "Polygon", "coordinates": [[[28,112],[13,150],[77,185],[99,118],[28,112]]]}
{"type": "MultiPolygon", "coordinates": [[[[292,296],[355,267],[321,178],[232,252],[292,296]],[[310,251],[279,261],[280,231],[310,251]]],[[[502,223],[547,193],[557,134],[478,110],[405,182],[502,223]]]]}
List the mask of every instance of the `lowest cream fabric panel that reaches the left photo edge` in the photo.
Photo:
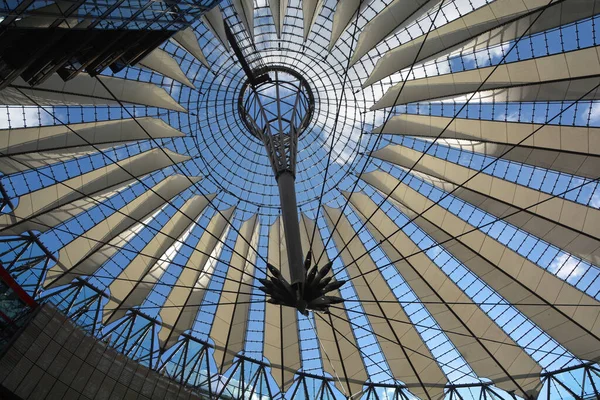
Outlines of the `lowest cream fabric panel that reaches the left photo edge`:
{"type": "Polygon", "coordinates": [[[0,216],[0,229],[3,234],[46,231],[114,195],[135,178],[173,165],[171,159],[175,163],[189,159],[165,151],[170,158],[162,149],[153,149],[22,195],[11,213],[0,216]]]}

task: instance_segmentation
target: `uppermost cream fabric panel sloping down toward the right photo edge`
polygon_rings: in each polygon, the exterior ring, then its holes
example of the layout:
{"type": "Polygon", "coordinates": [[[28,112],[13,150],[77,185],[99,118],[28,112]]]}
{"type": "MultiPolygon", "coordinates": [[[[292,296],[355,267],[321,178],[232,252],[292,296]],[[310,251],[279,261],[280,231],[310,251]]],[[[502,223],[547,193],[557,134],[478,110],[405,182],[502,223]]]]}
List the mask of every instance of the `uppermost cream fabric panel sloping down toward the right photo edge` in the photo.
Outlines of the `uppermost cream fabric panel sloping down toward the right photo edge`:
{"type": "Polygon", "coordinates": [[[600,170],[599,128],[403,114],[392,117],[384,130],[426,138],[443,132],[441,139],[455,139],[443,143],[493,157],[522,142],[503,158],[591,179],[600,170]]]}

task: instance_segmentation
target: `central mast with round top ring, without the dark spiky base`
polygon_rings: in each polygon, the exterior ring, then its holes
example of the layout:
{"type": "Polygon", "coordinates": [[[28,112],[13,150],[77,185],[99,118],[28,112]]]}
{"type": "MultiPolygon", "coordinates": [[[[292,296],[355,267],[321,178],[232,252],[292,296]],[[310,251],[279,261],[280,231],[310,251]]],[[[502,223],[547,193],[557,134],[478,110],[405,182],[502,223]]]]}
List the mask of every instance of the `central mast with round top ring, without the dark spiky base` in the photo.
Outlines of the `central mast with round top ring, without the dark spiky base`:
{"type": "Polygon", "coordinates": [[[248,131],[259,138],[267,152],[279,187],[290,280],[301,291],[305,281],[298,205],[296,155],[298,137],[310,123],[314,99],[308,83],[289,68],[253,71],[242,88],[239,111],[248,131]]]}

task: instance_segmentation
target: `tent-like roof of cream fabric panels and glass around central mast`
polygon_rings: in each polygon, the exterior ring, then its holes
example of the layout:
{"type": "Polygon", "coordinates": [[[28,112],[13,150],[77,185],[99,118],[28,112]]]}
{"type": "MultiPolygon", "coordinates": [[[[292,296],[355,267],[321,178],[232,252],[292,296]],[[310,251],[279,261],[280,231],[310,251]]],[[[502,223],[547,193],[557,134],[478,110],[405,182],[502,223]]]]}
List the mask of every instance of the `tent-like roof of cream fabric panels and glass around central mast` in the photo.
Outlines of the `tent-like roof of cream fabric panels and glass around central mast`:
{"type": "Polygon", "coordinates": [[[18,78],[0,261],[209,398],[597,398],[598,13],[225,0],[135,66],[18,78]],[[236,50],[308,86],[295,187],[302,248],[346,281],[329,313],[259,289],[288,259],[236,50]]]}

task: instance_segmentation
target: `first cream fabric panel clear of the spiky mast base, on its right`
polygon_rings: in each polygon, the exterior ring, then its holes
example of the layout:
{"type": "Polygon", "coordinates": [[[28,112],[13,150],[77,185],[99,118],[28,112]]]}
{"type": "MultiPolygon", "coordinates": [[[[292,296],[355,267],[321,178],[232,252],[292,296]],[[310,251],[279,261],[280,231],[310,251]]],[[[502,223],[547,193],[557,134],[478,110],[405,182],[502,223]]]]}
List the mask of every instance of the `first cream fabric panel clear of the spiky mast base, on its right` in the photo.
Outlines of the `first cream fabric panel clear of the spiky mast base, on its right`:
{"type": "Polygon", "coordinates": [[[377,271],[373,259],[367,255],[354,262],[367,251],[341,209],[324,207],[324,216],[346,272],[362,301],[361,305],[369,319],[371,329],[377,337],[382,353],[386,357],[394,378],[404,382],[410,391],[420,398],[441,397],[447,378],[436,363],[427,345],[419,336],[412,322],[404,312],[386,280],[377,271]],[[347,247],[342,251],[344,246],[347,247]],[[352,264],[351,264],[352,263],[352,264]],[[377,272],[361,276],[366,271],[377,272]],[[389,319],[388,319],[389,318],[389,319]],[[390,319],[393,319],[390,320],[390,319]]]}

